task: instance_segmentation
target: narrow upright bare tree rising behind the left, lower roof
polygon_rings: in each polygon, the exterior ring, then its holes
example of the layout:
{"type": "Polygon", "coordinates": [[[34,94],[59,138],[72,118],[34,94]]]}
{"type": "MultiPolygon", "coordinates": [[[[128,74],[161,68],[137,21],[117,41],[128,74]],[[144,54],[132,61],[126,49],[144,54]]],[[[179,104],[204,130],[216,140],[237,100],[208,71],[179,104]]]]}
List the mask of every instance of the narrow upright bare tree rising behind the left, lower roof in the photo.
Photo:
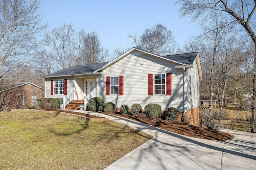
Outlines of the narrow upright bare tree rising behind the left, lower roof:
{"type": "Polygon", "coordinates": [[[88,33],[83,38],[81,56],[84,64],[101,63],[108,58],[109,52],[100,44],[100,38],[95,31],[88,33]]]}

